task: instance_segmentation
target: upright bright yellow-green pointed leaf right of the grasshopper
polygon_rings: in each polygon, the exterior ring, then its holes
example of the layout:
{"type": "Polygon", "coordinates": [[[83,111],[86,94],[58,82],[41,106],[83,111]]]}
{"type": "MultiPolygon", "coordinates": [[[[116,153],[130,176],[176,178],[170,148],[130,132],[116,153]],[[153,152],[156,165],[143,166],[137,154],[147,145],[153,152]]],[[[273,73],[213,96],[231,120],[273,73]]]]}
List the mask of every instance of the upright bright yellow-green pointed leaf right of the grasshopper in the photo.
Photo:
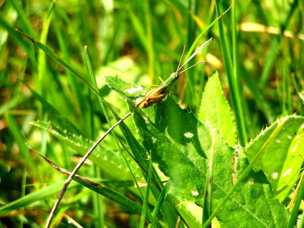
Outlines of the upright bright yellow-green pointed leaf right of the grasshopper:
{"type": "Polygon", "coordinates": [[[206,83],[199,120],[202,123],[210,122],[213,124],[229,145],[234,146],[236,144],[236,128],[233,115],[223,94],[217,72],[210,76],[206,83]]]}

